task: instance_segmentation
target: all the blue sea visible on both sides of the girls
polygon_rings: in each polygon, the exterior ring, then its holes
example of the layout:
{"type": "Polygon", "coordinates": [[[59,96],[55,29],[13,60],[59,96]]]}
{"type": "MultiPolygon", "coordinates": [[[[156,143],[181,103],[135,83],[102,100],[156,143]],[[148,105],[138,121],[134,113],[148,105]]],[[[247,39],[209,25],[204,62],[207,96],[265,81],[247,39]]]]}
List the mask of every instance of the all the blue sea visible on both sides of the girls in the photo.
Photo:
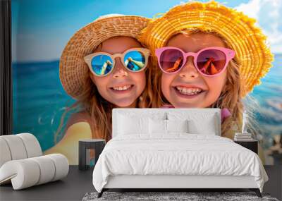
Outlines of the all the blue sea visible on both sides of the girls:
{"type": "MultiPolygon", "coordinates": [[[[273,64],[262,85],[250,94],[259,104],[256,117],[263,131],[264,149],[271,146],[273,135],[282,132],[282,55],[276,55],[273,64]]],[[[59,61],[13,63],[12,70],[13,133],[34,134],[42,150],[47,150],[54,146],[63,111],[75,102],[61,86],[59,61]]]]}

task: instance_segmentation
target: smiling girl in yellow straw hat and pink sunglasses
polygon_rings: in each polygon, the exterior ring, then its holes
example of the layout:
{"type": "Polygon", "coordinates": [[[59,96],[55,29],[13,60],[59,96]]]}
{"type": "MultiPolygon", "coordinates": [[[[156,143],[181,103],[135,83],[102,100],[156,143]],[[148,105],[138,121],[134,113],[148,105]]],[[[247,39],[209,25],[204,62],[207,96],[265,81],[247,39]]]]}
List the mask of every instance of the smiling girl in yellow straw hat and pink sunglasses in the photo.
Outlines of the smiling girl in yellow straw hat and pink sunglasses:
{"type": "Polygon", "coordinates": [[[140,41],[154,55],[157,106],[220,108],[221,133],[233,139],[243,97],[273,59],[255,20],[216,1],[189,1],[152,20],[140,41]]]}

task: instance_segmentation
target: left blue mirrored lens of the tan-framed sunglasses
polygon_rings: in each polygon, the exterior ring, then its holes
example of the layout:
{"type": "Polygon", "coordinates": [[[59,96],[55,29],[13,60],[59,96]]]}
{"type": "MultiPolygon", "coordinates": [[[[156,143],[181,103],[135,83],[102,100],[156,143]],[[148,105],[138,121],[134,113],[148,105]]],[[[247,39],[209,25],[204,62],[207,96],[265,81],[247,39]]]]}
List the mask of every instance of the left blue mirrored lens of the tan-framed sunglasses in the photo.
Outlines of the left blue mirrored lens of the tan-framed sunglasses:
{"type": "Polygon", "coordinates": [[[91,66],[96,75],[107,75],[113,68],[113,60],[108,55],[100,54],[92,58],[91,66]]]}

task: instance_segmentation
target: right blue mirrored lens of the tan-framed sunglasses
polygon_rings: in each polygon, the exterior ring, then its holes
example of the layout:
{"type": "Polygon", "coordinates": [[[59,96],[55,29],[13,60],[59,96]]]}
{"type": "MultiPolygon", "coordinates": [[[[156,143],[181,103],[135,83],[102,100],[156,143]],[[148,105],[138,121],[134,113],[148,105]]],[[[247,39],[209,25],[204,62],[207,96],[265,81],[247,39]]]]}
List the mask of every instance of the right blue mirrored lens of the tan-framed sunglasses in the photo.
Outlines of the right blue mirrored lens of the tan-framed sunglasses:
{"type": "Polygon", "coordinates": [[[141,71],[145,68],[146,57],[141,51],[129,51],[124,56],[124,63],[130,71],[141,71]]]}

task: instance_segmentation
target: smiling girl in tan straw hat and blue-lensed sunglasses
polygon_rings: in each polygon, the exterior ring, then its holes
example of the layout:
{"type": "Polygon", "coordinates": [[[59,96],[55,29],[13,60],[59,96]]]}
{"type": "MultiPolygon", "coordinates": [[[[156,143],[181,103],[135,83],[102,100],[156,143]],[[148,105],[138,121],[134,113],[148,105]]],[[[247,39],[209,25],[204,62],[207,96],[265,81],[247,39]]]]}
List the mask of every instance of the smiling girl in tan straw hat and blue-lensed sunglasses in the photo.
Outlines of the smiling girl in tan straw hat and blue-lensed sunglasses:
{"type": "Polygon", "coordinates": [[[66,134],[50,152],[78,164],[80,138],[111,139],[115,107],[150,107],[149,49],[137,41],[149,19],[107,15],[75,32],[60,60],[64,90],[80,111],[68,119],[66,134]]]}

